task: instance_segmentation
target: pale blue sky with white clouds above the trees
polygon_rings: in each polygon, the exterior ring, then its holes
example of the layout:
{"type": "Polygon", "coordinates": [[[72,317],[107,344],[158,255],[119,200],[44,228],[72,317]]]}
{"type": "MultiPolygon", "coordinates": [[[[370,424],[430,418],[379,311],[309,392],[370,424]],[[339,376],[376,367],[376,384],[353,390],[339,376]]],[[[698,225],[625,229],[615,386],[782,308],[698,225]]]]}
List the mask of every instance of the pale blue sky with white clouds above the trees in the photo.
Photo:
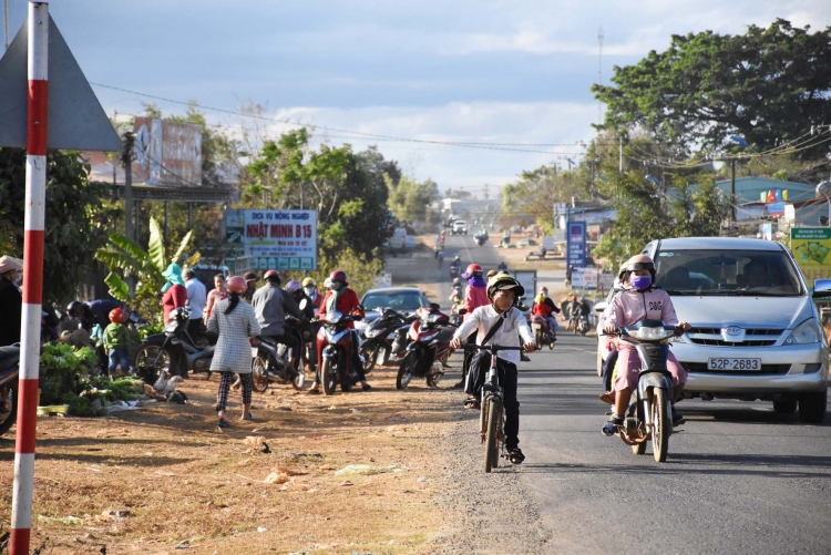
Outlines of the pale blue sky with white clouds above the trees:
{"type": "MultiPolygon", "coordinates": [[[[28,2],[9,1],[13,35],[28,2]]],[[[147,102],[184,112],[136,93],[230,112],[255,102],[318,126],[316,141],[375,144],[418,179],[476,194],[578,160],[595,136],[601,71],[608,84],[613,66],[665,50],[671,34],[776,18],[831,25],[828,0],[52,0],[50,13],[109,114],[147,102]],[[448,142],[488,147],[437,144],[448,142]]],[[[205,113],[228,132],[254,126],[205,113]]],[[[277,121],[260,125],[296,129],[277,121]]]]}

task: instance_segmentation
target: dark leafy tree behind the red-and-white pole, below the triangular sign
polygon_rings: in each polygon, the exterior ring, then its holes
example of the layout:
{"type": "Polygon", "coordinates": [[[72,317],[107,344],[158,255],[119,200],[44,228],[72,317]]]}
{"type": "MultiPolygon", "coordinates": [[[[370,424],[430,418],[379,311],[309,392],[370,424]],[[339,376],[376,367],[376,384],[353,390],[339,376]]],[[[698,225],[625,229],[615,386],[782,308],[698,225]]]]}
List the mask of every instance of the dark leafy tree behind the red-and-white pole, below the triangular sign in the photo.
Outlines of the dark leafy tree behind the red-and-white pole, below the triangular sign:
{"type": "MultiPolygon", "coordinates": [[[[119,209],[106,186],[89,181],[90,166],[76,152],[50,151],[47,157],[47,222],[43,300],[74,299],[93,253],[106,241],[119,209]]],[[[0,148],[0,244],[2,254],[22,257],[25,207],[25,151],[0,148]]]]}

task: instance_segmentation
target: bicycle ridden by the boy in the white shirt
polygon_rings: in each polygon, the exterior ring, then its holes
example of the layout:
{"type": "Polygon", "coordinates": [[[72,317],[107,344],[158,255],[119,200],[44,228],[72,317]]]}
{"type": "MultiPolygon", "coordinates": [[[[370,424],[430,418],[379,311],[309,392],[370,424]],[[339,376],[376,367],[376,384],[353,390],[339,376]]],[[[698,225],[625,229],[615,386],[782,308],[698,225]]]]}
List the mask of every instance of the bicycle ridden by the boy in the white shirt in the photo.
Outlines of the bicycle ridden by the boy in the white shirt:
{"type": "Polygon", "coordinates": [[[522,347],[501,345],[465,345],[464,351],[482,350],[491,353],[491,367],[482,386],[479,403],[479,431],[485,444],[485,472],[499,467],[500,455],[505,456],[505,411],[504,390],[500,383],[496,353],[499,351],[522,351],[522,347]]]}

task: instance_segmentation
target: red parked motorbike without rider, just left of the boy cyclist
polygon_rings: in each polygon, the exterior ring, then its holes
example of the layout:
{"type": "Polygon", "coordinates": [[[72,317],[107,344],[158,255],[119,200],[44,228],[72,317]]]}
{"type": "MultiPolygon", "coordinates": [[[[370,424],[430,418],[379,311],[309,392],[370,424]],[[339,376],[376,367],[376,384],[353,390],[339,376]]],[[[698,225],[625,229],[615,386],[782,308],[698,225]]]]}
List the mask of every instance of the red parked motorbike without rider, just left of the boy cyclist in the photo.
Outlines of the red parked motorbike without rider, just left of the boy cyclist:
{"type": "Polygon", "coordinates": [[[425,378],[429,387],[438,387],[444,376],[442,362],[452,352],[454,328],[450,326],[450,317],[439,311],[439,305],[419,308],[417,315],[407,332],[409,342],[396,377],[397,389],[406,389],[413,377],[425,378]]]}

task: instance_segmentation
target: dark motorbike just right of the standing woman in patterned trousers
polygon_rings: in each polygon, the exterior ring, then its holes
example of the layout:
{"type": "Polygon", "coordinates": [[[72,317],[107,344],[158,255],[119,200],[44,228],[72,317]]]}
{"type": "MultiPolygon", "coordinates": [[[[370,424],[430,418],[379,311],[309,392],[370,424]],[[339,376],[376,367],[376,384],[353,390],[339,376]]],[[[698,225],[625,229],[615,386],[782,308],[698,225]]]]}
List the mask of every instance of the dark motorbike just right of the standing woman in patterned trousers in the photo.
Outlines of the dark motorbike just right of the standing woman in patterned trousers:
{"type": "MultiPolygon", "coordinates": [[[[302,302],[306,302],[305,300],[302,302]]],[[[295,337],[296,342],[300,346],[300,352],[296,364],[290,362],[290,349],[283,343],[278,343],[274,338],[268,336],[257,336],[248,341],[252,345],[252,379],[254,381],[254,391],[263,393],[268,389],[269,383],[291,383],[297,391],[301,391],[306,386],[306,367],[308,364],[306,338],[304,328],[306,322],[298,320],[293,316],[286,316],[284,333],[295,337]]]]}

